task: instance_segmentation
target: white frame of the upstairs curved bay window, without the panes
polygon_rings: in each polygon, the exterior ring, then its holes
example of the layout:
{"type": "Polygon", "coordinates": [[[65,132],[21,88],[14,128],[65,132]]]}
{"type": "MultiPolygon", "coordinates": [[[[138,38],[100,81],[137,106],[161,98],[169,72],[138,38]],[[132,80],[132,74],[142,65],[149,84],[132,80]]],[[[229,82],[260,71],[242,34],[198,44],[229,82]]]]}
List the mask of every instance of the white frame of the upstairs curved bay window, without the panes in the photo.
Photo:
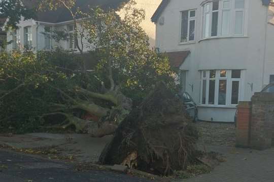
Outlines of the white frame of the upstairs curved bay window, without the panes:
{"type": "Polygon", "coordinates": [[[248,0],[244,0],[245,6],[241,9],[235,8],[235,0],[229,0],[230,1],[230,8],[224,8],[224,2],[228,0],[214,0],[214,1],[205,1],[201,5],[201,12],[202,12],[202,31],[201,31],[201,39],[208,39],[208,38],[218,38],[218,37],[242,37],[245,36],[246,33],[246,15],[247,15],[247,8],[248,8],[248,0]],[[217,12],[213,11],[213,2],[219,1],[219,15],[218,15],[218,33],[217,36],[211,36],[212,35],[212,13],[217,12]],[[210,6],[210,24],[209,24],[209,36],[205,35],[205,15],[208,14],[205,11],[205,7],[209,5],[210,6]],[[223,34],[222,30],[222,21],[223,21],[223,12],[229,11],[230,12],[230,18],[229,18],[229,32],[228,34],[223,34]],[[235,17],[236,12],[243,12],[243,26],[242,26],[242,33],[236,34],[235,33],[235,17]]]}

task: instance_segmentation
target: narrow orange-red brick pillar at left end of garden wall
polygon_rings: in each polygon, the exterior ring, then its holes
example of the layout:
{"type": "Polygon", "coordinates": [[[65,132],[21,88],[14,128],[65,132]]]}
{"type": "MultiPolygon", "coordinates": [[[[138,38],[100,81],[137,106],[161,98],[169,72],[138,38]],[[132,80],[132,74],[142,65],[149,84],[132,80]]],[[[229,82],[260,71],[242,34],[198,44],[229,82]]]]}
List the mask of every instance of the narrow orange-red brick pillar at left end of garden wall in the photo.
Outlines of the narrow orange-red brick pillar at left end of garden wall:
{"type": "Polygon", "coordinates": [[[249,147],[251,102],[239,102],[236,127],[236,147],[249,147]]]}

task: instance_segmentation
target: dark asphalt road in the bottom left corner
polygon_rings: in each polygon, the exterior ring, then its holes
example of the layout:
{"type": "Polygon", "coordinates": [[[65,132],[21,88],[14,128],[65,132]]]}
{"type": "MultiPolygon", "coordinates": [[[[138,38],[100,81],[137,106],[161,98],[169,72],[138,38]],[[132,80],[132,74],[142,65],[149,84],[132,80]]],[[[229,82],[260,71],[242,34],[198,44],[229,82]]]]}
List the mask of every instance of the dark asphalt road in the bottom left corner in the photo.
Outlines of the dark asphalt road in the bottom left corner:
{"type": "Polygon", "coordinates": [[[1,182],[149,182],[150,180],[105,171],[75,171],[73,165],[0,149],[1,182]]]}

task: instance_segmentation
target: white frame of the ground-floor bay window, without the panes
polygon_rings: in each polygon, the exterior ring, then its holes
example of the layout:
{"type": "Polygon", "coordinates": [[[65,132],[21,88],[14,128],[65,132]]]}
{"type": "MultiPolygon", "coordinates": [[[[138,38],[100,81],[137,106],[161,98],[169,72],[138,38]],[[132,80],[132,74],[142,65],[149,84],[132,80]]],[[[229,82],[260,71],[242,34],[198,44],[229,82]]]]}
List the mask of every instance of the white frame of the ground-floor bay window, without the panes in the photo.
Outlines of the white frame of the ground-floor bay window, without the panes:
{"type": "MultiPolygon", "coordinates": [[[[225,70],[225,69],[222,69],[225,70]]],[[[235,107],[237,104],[231,104],[232,99],[232,81],[239,81],[239,90],[238,90],[238,102],[241,101],[241,92],[242,92],[242,81],[243,81],[243,70],[241,70],[241,78],[231,78],[232,70],[225,70],[226,77],[220,76],[220,71],[222,70],[201,70],[201,83],[200,83],[200,106],[211,106],[211,107],[235,107]],[[210,71],[216,71],[215,78],[210,78],[210,71]],[[206,76],[203,77],[203,72],[206,76]],[[202,103],[202,92],[203,92],[203,80],[207,80],[205,88],[205,104],[202,103]],[[215,98],[214,104],[209,104],[209,86],[210,80],[215,80],[215,98]],[[226,103],[225,105],[219,105],[219,83],[220,80],[226,80],[226,103]]]]}

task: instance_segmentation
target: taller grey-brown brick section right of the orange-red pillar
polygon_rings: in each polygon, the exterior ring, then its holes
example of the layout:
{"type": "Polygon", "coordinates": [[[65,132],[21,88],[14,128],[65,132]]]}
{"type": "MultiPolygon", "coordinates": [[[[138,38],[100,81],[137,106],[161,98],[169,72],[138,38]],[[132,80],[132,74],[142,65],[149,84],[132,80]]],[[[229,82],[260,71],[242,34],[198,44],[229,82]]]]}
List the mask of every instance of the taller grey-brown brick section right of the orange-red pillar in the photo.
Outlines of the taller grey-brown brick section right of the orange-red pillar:
{"type": "Polygon", "coordinates": [[[271,148],[274,122],[274,94],[255,93],[252,97],[250,147],[271,148]]]}

